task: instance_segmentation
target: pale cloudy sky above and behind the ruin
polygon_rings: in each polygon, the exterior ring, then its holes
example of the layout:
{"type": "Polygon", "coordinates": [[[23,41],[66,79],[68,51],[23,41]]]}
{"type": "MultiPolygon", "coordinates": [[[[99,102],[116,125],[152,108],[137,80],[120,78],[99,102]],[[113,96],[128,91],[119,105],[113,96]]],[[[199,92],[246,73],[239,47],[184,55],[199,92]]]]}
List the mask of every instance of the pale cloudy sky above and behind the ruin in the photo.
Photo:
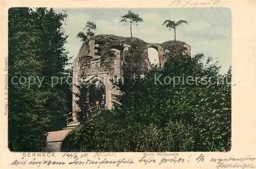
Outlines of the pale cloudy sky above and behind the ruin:
{"type": "MultiPolygon", "coordinates": [[[[214,57],[214,62],[222,66],[221,73],[226,73],[231,66],[231,12],[227,8],[136,8],[136,9],[54,9],[56,12],[66,10],[68,14],[65,33],[69,35],[65,45],[71,62],[78,55],[82,44],[76,34],[83,31],[87,21],[94,21],[97,34],[130,36],[129,25],[119,22],[120,16],[128,10],[139,14],[143,19],[139,25],[132,27],[133,36],[148,43],[162,43],[174,40],[174,31],[162,26],[164,20],[186,20],[188,25],[179,27],[176,39],[191,45],[191,55],[203,53],[214,57]]],[[[148,50],[149,59],[154,62],[156,51],[148,50]]]]}

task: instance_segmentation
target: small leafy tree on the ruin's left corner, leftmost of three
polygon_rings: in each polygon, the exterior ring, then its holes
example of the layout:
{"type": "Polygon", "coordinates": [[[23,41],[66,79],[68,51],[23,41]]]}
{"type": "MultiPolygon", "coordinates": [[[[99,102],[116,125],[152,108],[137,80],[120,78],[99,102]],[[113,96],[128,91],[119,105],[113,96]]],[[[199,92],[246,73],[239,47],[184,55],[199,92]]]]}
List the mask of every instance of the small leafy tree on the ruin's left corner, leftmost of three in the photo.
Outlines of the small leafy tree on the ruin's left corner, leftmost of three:
{"type": "Polygon", "coordinates": [[[84,27],[83,30],[86,30],[87,32],[84,33],[84,32],[78,32],[78,34],[76,35],[77,38],[80,38],[82,41],[85,41],[87,39],[90,39],[91,37],[93,37],[95,35],[95,32],[96,32],[96,24],[95,22],[91,22],[91,21],[88,21],[86,23],[86,27],[84,27]]]}

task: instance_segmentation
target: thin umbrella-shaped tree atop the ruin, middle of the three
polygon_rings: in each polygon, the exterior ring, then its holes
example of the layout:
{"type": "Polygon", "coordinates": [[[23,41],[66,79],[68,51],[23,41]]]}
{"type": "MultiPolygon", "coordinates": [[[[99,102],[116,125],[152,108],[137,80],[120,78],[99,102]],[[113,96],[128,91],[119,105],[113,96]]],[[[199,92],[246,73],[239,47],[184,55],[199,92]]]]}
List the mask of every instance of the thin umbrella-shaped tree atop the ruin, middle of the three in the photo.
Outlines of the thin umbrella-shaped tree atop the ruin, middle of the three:
{"type": "Polygon", "coordinates": [[[127,14],[121,16],[120,22],[130,23],[130,33],[131,37],[133,37],[132,24],[138,26],[138,22],[143,22],[143,19],[140,18],[138,14],[135,14],[132,11],[128,11],[127,14]]]}

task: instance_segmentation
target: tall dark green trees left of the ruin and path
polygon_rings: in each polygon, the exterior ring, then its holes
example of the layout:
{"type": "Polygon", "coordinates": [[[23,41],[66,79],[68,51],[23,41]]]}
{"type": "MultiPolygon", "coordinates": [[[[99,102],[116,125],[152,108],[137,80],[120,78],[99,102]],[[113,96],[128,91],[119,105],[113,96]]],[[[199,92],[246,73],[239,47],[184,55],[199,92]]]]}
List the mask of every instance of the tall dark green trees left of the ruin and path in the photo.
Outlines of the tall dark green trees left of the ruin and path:
{"type": "Polygon", "coordinates": [[[71,73],[64,69],[68,65],[63,48],[67,36],[61,26],[66,16],[46,8],[9,9],[8,143],[11,151],[42,151],[47,132],[65,125],[63,113],[71,110],[71,85],[66,79],[52,85],[52,77],[60,80],[71,73]],[[22,76],[27,83],[18,83],[22,76]]]}

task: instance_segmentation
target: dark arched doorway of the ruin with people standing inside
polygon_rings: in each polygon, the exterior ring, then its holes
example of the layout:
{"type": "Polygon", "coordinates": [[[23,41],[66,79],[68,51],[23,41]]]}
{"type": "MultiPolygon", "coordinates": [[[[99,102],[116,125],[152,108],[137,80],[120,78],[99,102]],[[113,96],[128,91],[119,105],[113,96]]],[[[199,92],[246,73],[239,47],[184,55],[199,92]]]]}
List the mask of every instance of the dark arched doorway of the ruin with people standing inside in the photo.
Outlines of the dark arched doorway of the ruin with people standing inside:
{"type": "Polygon", "coordinates": [[[93,107],[98,102],[101,108],[105,108],[106,90],[105,85],[98,79],[90,84],[89,90],[89,105],[93,107]]]}

